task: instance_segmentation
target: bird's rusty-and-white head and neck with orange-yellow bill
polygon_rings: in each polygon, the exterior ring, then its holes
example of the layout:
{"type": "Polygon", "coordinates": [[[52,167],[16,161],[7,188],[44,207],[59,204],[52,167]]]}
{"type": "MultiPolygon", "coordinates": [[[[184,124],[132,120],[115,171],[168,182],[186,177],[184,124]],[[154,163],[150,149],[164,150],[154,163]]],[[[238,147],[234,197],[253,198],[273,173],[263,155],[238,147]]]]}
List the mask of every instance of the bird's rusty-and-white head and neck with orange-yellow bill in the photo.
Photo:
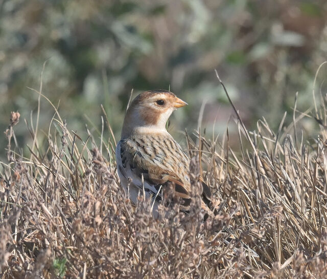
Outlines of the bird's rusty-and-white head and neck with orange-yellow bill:
{"type": "Polygon", "coordinates": [[[151,90],[139,94],[127,110],[122,138],[141,131],[166,131],[166,122],[172,112],[184,105],[187,103],[166,90],[151,90]]]}

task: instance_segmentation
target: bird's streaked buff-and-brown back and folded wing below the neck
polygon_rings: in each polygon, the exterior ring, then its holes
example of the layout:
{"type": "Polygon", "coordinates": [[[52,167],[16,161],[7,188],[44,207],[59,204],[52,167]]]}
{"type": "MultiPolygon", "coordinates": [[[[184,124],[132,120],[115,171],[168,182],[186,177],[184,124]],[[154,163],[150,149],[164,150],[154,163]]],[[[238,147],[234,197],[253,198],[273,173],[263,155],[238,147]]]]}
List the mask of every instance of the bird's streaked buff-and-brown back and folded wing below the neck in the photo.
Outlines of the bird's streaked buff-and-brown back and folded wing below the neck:
{"type": "MultiPolygon", "coordinates": [[[[190,159],[170,135],[121,140],[116,157],[120,173],[140,190],[144,188],[161,200],[160,187],[165,193],[165,186],[173,185],[174,195],[184,206],[190,205],[190,159]]],[[[208,209],[204,203],[201,207],[208,209]]]]}

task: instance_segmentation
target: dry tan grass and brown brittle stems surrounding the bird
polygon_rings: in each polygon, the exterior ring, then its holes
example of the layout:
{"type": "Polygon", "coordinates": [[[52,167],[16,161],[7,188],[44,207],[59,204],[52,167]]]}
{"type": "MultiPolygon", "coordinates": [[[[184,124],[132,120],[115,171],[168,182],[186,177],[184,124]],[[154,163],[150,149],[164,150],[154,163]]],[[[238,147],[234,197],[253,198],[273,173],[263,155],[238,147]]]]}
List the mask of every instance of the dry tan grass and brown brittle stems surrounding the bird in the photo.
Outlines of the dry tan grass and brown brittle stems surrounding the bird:
{"type": "Polygon", "coordinates": [[[265,120],[252,133],[238,120],[239,154],[228,133],[186,135],[194,187],[202,175],[217,213],[201,222],[196,199],[188,216],[172,204],[160,220],[142,197],[133,207],[119,187],[113,139],[83,142],[59,114],[43,144],[31,128],[30,158],[20,156],[13,113],[9,163],[0,164],[2,277],[326,278],[326,135],[322,127],[309,145],[295,116],[277,133],[265,120]]]}

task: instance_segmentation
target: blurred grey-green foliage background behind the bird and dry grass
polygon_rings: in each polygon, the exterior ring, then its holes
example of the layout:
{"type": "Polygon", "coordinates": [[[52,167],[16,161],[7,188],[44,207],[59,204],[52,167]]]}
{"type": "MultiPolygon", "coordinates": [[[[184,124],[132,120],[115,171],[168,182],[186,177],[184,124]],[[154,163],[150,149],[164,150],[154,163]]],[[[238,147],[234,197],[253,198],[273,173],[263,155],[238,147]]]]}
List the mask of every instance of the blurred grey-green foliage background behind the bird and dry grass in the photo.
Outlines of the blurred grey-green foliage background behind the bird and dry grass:
{"type": "MultiPolygon", "coordinates": [[[[313,106],[326,19],[324,0],[0,0],[0,131],[19,111],[17,140],[31,143],[24,119],[35,125],[38,94],[29,88],[39,89],[45,61],[42,94],[83,140],[85,125],[101,130],[100,104],[120,137],[132,89],[170,89],[189,103],[171,118],[175,137],[198,127],[201,106],[202,131],[222,134],[232,111],[214,69],[248,128],[262,117],[277,128],[285,111],[291,121],[296,92],[298,110],[313,106]]],[[[54,113],[42,98],[45,134],[54,113]]]]}

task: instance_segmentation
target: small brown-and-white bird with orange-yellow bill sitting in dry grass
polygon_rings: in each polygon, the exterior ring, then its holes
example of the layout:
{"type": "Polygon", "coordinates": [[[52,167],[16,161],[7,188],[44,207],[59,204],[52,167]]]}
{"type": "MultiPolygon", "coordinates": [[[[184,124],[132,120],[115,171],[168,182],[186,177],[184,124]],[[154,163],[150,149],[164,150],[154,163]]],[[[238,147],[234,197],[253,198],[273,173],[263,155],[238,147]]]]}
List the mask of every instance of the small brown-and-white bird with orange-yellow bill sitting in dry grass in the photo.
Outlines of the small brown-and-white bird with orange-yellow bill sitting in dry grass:
{"type": "MultiPolygon", "coordinates": [[[[155,218],[168,187],[172,186],[174,198],[181,200],[182,211],[187,212],[191,203],[190,158],[166,130],[172,112],[184,105],[187,103],[165,90],[139,94],[126,112],[116,147],[123,188],[134,204],[143,193],[151,198],[155,218]]],[[[202,200],[201,207],[210,211],[202,200]]]]}

